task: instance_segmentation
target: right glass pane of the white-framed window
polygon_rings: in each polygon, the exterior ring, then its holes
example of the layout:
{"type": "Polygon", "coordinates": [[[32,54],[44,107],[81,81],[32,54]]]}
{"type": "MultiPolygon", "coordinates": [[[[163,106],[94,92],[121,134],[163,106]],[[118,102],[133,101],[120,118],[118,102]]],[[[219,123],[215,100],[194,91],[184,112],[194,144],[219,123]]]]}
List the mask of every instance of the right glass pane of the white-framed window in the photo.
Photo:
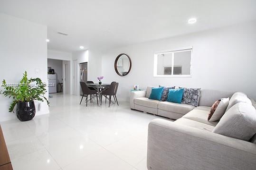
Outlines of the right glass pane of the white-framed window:
{"type": "Polygon", "coordinates": [[[174,53],[173,75],[190,75],[191,51],[174,53]]]}

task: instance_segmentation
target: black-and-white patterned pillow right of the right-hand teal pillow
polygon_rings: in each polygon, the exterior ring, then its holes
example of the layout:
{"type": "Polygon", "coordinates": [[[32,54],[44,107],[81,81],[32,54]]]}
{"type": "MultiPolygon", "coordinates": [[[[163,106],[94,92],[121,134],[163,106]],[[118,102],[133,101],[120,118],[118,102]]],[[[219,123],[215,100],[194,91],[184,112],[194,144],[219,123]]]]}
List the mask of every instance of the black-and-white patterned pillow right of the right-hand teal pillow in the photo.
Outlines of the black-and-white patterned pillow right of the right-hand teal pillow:
{"type": "MultiPolygon", "coordinates": [[[[179,87],[184,88],[184,87],[179,87]]],[[[198,107],[201,88],[184,88],[181,103],[198,107]]]]}

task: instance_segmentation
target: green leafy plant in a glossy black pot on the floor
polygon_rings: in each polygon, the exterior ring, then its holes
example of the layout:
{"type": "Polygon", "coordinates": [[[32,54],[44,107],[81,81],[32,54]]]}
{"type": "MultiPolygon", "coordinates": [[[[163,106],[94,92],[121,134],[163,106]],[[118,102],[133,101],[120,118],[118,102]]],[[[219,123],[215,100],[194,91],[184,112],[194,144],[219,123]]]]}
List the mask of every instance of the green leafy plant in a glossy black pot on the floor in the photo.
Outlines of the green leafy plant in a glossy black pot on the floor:
{"type": "Polygon", "coordinates": [[[49,105],[47,98],[44,94],[47,92],[45,84],[40,78],[28,79],[27,71],[23,74],[22,79],[17,85],[7,84],[5,80],[2,81],[2,85],[5,97],[13,98],[10,104],[9,112],[13,111],[15,105],[16,115],[20,121],[28,121],[34,118],[36,114],[36,108],[34,100],[46,101],[49,105]]]}

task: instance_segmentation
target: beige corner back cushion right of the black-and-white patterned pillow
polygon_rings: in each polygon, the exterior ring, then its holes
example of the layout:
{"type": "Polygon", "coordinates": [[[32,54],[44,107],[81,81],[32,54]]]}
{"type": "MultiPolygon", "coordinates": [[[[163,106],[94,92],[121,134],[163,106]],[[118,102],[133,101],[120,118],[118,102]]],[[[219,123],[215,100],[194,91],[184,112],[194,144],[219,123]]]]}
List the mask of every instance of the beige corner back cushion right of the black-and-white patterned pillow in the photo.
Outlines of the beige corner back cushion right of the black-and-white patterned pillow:
{"type": "Polygon", "coordinates": [[[214,102],[222,98],[231,98],[234,92],[218,91],[218,90],[208,90],[201,89],[199,106],[211,107],[214,102]]]}

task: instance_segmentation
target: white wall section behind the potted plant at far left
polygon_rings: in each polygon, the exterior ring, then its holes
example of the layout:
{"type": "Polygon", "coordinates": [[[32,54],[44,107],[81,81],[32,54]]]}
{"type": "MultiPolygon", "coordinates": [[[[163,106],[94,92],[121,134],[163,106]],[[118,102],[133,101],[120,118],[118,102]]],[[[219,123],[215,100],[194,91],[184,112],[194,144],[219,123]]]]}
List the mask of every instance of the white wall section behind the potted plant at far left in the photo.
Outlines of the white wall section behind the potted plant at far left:
{"type": "MultiPolygon", "coordinates": [[[[28,77],[47,82],[47,26],[5,14],[0,14],[0,23],[0,80],[19,83],[27,71],[28,77]]],[[[8,112],[11,101],[0,94],[0,121],[17,119],[8,112]]],[[[36,109],[36,116],[49,113],[46,102],[36,102],[36,109]]]]}

